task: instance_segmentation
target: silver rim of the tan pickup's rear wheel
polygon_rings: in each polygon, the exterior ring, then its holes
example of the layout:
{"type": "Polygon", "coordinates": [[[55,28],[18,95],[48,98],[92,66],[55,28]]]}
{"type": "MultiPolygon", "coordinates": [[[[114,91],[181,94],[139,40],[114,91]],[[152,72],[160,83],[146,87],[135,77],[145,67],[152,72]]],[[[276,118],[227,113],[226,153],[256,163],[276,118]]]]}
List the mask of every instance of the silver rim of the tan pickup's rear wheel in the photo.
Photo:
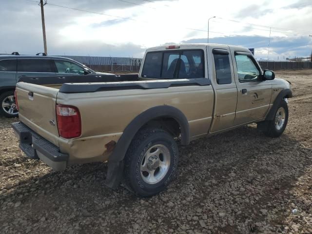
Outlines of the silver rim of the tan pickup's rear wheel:
{"type": "Polygon", "coordinates": [[[141,160],[141,176],[145,183],[156,184],[169,171],[170,152],[164,145],[150,147],[141,160]]]}

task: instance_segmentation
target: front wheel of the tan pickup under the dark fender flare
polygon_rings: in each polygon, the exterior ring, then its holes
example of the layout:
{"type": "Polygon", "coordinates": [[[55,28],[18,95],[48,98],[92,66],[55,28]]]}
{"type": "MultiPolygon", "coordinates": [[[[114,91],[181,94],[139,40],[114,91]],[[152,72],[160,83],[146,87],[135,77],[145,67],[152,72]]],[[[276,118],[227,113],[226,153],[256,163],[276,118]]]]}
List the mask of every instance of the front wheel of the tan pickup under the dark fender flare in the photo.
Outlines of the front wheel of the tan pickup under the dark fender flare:
{"type": "Polygon", "coordinates": [[[258,129],[268,137],[280,137],[284,132],[288,122],[288,105],[282,99],[279,103],[273,120],[265,120],[257,124],[258,129]]]}

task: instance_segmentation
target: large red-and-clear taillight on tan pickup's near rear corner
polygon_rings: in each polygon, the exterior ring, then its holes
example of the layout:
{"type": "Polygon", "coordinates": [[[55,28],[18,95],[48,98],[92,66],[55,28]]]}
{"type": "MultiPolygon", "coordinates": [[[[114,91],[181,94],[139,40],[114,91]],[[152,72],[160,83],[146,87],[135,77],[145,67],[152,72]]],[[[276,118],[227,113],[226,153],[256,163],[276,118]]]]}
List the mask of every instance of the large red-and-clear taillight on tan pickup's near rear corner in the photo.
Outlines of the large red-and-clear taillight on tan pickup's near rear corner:
{"type": "Polygon", "coordinates": [[[59,136],[75,138],[81,135],[81,118],[77,107],[56,105],[59,136]]]}

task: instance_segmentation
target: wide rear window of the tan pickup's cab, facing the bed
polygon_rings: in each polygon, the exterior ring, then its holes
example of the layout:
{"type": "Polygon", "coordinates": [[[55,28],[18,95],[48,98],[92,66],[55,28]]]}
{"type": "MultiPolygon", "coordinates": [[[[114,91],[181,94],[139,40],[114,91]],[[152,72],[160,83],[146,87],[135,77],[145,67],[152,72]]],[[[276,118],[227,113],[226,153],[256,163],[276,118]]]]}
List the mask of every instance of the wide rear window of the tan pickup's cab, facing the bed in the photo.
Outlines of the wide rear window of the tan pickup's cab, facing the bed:
{"type": "Polygon", "coordinates": [[[149,52],[142,69],[143,78],[204,78],[202,50],[149,52]]]}

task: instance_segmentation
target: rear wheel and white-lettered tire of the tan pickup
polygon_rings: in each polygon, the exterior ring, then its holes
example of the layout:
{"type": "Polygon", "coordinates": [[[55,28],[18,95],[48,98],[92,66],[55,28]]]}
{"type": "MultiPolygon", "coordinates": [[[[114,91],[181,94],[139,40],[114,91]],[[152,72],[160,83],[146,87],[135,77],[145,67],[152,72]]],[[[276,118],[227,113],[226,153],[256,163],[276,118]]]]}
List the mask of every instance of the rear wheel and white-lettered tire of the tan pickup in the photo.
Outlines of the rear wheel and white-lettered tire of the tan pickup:
{"type": "Polygon", "coordinates": [[[124,180],[138,196],[156,195],[175,177],[178,148],[174,138],[161,129],[136,134],[125,155],[124,180]]]}

